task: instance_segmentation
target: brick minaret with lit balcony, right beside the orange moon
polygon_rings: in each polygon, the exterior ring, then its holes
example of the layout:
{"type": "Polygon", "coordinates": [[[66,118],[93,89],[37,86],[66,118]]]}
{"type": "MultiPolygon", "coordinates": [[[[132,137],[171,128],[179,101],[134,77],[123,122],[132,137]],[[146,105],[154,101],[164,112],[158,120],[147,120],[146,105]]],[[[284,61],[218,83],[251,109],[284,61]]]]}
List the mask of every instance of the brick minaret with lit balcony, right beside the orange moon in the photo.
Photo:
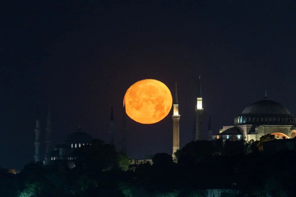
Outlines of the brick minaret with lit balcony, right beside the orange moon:
{"type": "Polygon", "coordinates": [[[180,120],[180,114],[179,114],[179,104],[178,104],[178,94],[177,94],[177,83],[176,83],[176,91],[175,91],[175,97],[173,101],[173,159],[176,159],[175,152],[180,148],[179,143],[179,120],[180,120]]]}

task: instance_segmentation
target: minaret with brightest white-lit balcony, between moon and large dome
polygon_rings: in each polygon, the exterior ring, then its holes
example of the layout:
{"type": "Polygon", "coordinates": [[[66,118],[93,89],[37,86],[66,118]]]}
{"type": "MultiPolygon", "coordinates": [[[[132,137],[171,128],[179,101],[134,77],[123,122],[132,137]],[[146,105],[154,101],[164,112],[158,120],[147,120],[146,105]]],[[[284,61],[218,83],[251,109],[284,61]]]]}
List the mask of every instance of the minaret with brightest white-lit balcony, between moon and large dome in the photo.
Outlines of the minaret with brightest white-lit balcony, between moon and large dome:
{"type": "Polygon", "coordinates": [[[193,141],[202,140],[202,87],[199,77],[199,83],[198,83],[198,92],[197,92],[197,105],[195,107],[196,112],[196,125],[195,125],[195,135],[193,138],[193,141]]]}

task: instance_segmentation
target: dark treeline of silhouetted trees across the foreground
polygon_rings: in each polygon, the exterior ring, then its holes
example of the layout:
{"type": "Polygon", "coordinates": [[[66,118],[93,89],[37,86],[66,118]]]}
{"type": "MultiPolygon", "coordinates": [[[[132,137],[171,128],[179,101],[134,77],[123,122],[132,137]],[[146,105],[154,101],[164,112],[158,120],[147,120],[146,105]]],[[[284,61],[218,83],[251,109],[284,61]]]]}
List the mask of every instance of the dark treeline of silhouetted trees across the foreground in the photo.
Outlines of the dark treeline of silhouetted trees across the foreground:
{"type": "Polygon", "coordinates": [[[74,169],[27,164],[1,176],[2,196],[206,196],[207,189],[232,189],[237,196],[294,196],[295,152],[262,153],[260,141],[196,141],[149,162],[130,165],[126,154],[94,140],[75,152],[74,169]]]}

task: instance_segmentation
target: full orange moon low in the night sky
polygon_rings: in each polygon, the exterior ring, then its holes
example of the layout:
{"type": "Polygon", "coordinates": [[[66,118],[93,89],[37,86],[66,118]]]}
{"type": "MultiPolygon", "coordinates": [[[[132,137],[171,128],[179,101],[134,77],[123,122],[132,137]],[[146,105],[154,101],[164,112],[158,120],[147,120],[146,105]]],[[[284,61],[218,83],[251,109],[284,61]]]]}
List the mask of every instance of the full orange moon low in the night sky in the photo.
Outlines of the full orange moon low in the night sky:
{"type": "Polygon", "coordinates": [[[126,91],[123,106],[126,114],[136,122],[153,124],[163,120],[173,104],[168,87],[155,79],[144,79],[131,85],[126,91]]]}

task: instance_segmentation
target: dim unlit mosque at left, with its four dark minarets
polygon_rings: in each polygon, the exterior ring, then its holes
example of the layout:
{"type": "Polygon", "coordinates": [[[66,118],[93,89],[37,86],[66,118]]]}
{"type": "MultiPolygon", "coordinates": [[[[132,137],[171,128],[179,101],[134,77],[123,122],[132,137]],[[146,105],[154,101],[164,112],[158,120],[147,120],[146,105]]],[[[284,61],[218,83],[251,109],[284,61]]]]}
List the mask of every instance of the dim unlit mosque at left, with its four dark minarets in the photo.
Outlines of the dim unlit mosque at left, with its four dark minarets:
{"type": "MultiPolygon", "coordinates": [[[[37,102],[38,103],[38,102],[37,102]]],[[[39,103],[38,103],[39,104],[39,103]]],[[[114,114],[113,114],[113,106],[111,106],[111,117],[110,117],[110,144],[114,143],[114,114]]],[[[39,116],[39,106],[37,106],[37,117],[36,117],[36,127],[35,127],[35,154],[34,159],[35,163],[41,162],[41,146],[44,143],[41,141],[41,132],[40,128],[40,116],[39,116]]],[[[78,125],[78,129],[76,132],[68,135],[61,144],[56,145],[54,148],[52,147],[52,127],[51,127],[51,113],[50,106],[48,107],[48,115],[46,117],[46,127],[45,127],[45,146],[46,153],[45,159],[43,160],[44,165],[55,164],[67,166],[69,168],[75,167],[75,157],[73,156],[73,151],[77,148],[81,148],[83,146],[91,145],[91,141],[93,140],[92,136],[83,132],[81,130],[81,125],[78,125]]],[[[121,150],[126,152],[126,114],[125,110],[123,113],[123,127],[122,127],[122,140],[121,150]]]]}

